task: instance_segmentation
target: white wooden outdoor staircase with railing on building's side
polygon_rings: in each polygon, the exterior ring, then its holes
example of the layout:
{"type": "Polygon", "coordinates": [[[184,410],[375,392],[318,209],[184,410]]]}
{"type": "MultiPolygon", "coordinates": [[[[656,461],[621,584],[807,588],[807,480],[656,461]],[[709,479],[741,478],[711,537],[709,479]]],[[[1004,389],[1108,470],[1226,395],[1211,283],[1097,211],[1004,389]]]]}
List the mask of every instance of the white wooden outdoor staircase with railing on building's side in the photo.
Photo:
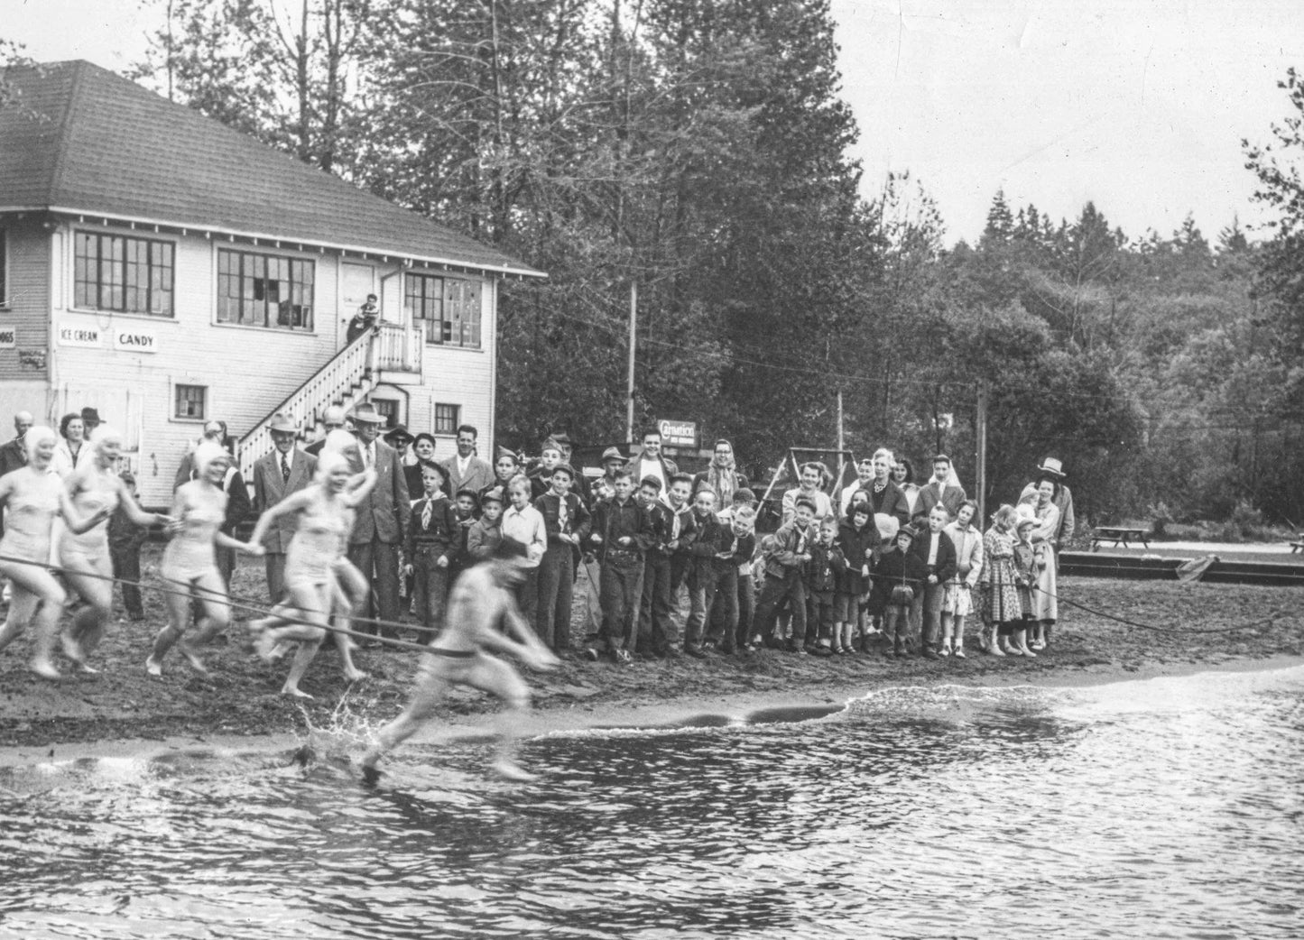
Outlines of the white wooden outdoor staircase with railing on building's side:
{"type": "Polygon", "coordinates": [[[424,343],[420,327],[382,322],[335,353],[236,442],[236,465],[245,481],[253,477],[254,462],[273,448],[273,417],[288,415],[301,441],[321,437],[322,416],[331,405],[352,411],[386,373],[420,375],[424,343]]]}

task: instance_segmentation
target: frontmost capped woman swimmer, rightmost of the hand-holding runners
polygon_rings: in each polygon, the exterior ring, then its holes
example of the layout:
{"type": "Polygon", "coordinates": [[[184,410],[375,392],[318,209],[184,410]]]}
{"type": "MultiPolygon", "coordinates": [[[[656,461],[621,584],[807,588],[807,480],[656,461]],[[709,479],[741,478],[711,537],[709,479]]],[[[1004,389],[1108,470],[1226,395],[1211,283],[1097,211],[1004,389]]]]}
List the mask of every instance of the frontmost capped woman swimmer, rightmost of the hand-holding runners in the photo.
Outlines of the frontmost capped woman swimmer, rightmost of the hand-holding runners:
{"type": "MultiPolygon", "coordinates": [[[[299,514],[295,537],[286,551],[286,592],[289,595],[289,602],[280,605],[278,610],[284,611],[287,617],[308,622],[278,627],[276,624],[284,621],[273,615],[249,624],[258,631],[254,648],[267,661],[275,658],[279,644],[299,643],[286,684],[280,690],[282,695],[313,698],[299,688],[299,682],[317,656],[317,649],[326,638],[331,611],[338,605],[336,563],[344,540],[352,529],[352,508],[366,498],[374,485],[376,471],[368,468],[351,476],[347,458],[323,448],[317,460],[313,485],[263,512],[249,537],[253,550],[261,554],[265,550],[262,538],[267,535],[267,529],[279,518],[299,514]]],[[[342,649],[342,657],[344,677],[349,682],[364,678],[364,674],[353,666],[347,645],[342,649]]]]}

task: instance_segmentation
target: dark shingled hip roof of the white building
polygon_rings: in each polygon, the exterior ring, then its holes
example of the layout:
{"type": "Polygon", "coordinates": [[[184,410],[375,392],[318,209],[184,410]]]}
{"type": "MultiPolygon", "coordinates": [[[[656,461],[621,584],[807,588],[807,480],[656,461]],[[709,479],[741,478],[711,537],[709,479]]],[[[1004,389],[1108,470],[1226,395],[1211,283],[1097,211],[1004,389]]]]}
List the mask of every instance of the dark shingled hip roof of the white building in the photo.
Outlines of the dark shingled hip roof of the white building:
{"type": "Polygon", "coordinates": [[[0,211],[85,214],[544,276],[91,63],[12,68],[5,78],[20,98],[0,107],[0,211]]]}

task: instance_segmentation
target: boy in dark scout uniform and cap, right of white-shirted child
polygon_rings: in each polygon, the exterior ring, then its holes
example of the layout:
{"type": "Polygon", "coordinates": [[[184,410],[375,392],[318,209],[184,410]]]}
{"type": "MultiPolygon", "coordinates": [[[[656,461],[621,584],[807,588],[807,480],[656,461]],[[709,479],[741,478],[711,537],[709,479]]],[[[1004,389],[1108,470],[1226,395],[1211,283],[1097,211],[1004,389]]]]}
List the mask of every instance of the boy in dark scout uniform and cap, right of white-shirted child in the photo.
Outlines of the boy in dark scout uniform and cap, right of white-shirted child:
{"type": "Polygon", "coordinates": [[[544,516],[548,548],[539,562],[539,639],[558,656],[570,651],[575,585],[575,550],[588,540],[592,520],[584,501],[571,493],[575,468],[553,467],[552,489],[535,499],[544,516]]]}

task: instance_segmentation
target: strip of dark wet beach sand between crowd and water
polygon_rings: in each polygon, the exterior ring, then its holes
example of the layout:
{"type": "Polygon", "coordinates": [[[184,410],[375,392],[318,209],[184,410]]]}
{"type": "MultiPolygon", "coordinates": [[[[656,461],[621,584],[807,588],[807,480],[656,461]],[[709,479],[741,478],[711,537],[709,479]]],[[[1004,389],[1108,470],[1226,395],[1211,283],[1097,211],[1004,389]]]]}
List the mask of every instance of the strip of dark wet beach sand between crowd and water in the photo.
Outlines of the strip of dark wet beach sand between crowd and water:
{"type": "MultiPolygon", "coordinates": [[[[258,575],[252,566],[240,568],[233,593],[257,595],[258,575]]],[[[554,673],[527,675],[537,709],[527,730],[741,717],[760,708],[836,705],[891,686],[1072,686],[1282,666],[1304,657],[1304,588],[1086,578],[1065,578],[1060,587],[1065,600],[1175,632],[1141,630],[1063,605],[1052,645],[1035,660],[985,656],[970,641],[968,658],[940,661],[772,651],[631,666],[566,661],[554,673]]],[[[147,596],[146,610],[143,623],[111,627],[95,657],[103,670],[98,677],[38,679],[26,669],[26,638],[0,656],[0,763],[48,759],[51,752],[60,759],[193,746],[248,748],[252,737],[261,739],[258,746],[292,744],[309,727],[363,741],[402,708],[416,664],[412,653],[365,651],[359,664],[372,678],[349,688],[338,657],[323,651],[303,683],[317,698],[297,703],[278,694],[288,664],[253,657],[241,626],[233,624],[226,645],[206,654],[211,679],[193,673],[181,657],[170,658],[164,677],[153,679],[143,662],[162,624],[158,595],[147,596]]],[[[493,711],[486,696],[459,691],[425,739],[484,734],[493,711]]]]}

